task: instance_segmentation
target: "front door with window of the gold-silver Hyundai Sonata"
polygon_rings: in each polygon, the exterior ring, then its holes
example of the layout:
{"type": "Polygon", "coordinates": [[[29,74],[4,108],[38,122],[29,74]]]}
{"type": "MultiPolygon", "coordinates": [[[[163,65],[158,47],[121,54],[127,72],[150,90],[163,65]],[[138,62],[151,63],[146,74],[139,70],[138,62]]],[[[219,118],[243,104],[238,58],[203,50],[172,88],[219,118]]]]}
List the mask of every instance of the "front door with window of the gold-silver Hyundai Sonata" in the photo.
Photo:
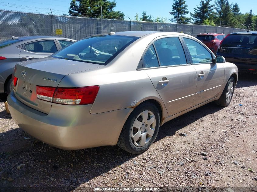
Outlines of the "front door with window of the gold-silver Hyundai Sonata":
{"type": "Polygon", "coordinates": [[[197,72],[197,87],[193,105],[210,100],[220,93],[224,80],[223,65],[213,63],[213,54],[200,42],[183,37],[192,66],[197,72]]]}

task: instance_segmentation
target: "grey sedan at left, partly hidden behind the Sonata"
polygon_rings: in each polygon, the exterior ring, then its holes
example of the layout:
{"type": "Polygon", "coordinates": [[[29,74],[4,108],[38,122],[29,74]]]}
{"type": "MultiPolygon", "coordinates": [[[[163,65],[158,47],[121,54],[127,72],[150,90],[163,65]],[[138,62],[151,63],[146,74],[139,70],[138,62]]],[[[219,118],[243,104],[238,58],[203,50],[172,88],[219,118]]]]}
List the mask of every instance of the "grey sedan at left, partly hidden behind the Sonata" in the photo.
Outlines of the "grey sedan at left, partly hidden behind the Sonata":
{"type": "Polygon", "coordinates": [[[17,62],[43,58],[75,42],[52,36],[14,37],[0,41],[0,93],[10,93],[12,71],[17,62]]]}

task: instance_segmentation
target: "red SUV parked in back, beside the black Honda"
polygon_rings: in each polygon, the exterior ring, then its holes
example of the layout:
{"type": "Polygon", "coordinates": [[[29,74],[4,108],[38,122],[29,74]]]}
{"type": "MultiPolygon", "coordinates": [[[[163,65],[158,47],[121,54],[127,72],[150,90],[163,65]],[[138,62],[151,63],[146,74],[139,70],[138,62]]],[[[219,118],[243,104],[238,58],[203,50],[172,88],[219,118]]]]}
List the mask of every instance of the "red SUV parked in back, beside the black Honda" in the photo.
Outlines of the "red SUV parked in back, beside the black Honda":
{"type": "Polygon", "coordinates": [[[223,33],[200,33],[196,38],[203,42],[216,55],[221,40],[225,36],[223,33]]]}

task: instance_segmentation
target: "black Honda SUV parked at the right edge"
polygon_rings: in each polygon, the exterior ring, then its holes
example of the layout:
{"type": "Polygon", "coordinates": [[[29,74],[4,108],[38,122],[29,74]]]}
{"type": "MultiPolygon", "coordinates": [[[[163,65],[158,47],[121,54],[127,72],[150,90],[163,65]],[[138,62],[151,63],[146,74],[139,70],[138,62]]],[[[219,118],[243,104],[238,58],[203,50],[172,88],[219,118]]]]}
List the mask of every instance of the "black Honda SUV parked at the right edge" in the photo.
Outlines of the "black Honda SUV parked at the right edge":
{"type": "Polygon", "coordinates": [[[217,55],[234,63],[239,71],[257,73],[257,32],[238,32],[227,35],[217,55]]]}

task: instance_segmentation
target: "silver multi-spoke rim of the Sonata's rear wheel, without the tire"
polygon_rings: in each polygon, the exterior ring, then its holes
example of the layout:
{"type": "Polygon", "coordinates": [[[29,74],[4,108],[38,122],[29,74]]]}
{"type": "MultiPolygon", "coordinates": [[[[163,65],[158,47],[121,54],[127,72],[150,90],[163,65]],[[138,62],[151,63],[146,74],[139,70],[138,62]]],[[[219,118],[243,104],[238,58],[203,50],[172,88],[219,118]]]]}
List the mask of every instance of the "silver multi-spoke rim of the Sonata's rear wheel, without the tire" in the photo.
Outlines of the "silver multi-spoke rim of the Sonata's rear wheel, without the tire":
{"type": "Polygon", "coordinates": [[[156,119],[153,112],[146,110],[140,113],[131,129],[132,142],[137,147],[147,144],[155,132],[156,119]]]}

